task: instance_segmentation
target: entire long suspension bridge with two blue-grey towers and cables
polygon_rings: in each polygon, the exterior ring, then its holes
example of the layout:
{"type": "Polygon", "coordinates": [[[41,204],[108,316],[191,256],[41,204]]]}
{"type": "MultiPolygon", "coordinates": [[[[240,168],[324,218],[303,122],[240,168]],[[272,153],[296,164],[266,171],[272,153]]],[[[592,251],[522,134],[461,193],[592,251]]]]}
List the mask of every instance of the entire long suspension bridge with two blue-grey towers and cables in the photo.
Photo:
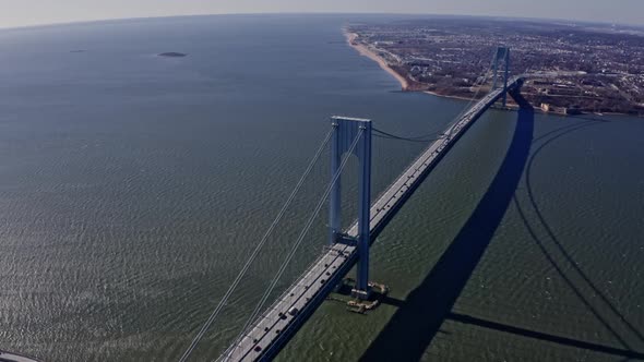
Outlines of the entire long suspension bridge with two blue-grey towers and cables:
{"type": "MultiPolygon", "coordinates": [[[[217,307],[210,315],[188,350],[181,357],[180,362],[188,360],[208,327],[220,313],[250,264],[259,254],[260,249],[266,242],[267,236],[273,232],[276,222],[284,216],[284,210],[293,201],[303,180],[309,176],[312,165],[329,145],[331,146],[331,182],[324,190],[320,202],[314,207],[313,215],[307,220],[295,245],[286,255],[285,261],[271,281],[262,300],[251,314],[249,322],[243,326],[242,333],[224,351],[218,360],[266,361],[273,359],[309,319],[327,295],[342,282],[343,278],[355,265],[357,265],[357,276],[351,294],[357,299],[368,299],[371,287],[369,281],[369,248],[380,232],[387,226],[414,191],[422,183],[454,144],[492,105],[501,100],[502,105],[505,106],[508,94],[520,106],[523,105],[523,98],[520,95],[523,76],[510,77],[509,67],[510,50],[499,47],[492,57],[492,67],[478,82],[480,83],[478,84],[478,88],[480,89],[491,73],[493,79],[490,92],[470,108],[466,107],[464,112],[436,140],[432,140],[428,147],[421,152],[420,156],[373,203],[371,203],[370,197],[371,137],[372,134],[386,135],[387,133],[373,128],[371,121],[367,119],[332,117],[331,131],[322,142],[305,174],[288,197],[275,221],[255,245],[253,253],[243,265],[241,272],[217,307]],[[499,69],[501,65],[504,67],[502,71],[499,69]],[[502,79],[501,85],[499,84],[499,79],[502,79]],[[351,155],[357,156],[359,160],[358,219],[348,230],[343,231],[341,218],[341,174],[351,155]],[[329,245],[325,252],[273,304],[262,312],[261,309],[266,303],[271,291],[275,288],[277,280],[293,258],[295,251],[306,238],[307,232],[315,220],[315,216],[324,206],[326,200],[329,200],[330,204],[330,230],[329,245]]],[[[473,100],[477,96],[478,94],[473,97],[473,100]]],[[[390,136],[393,135],[390,134],[390,136]]]]}

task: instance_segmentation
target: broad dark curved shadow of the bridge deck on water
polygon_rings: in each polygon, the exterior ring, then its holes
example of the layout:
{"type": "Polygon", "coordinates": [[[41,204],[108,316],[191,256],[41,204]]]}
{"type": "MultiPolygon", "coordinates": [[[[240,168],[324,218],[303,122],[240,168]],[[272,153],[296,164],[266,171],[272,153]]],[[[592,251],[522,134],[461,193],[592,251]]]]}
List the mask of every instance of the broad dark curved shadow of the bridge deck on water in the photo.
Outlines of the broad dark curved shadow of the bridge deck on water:
{"type": "Polygon", "coordinates": [[[422,357],[512,202],[529,157],[534,121],[532,108],[518,111],[505,158],[476,209],[430,274],[399,304],[361,361],[417,361],[422,357]]]}

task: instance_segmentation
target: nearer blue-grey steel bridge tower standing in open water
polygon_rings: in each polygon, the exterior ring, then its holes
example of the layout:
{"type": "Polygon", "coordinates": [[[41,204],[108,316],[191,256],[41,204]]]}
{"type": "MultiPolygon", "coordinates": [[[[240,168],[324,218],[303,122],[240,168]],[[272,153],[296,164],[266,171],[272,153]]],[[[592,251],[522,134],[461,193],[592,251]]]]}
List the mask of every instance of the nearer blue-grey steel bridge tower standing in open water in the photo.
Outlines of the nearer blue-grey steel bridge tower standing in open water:
{"type": "Polygon", "coordinates": [[[331,142],[331,178],[341,170],[342,156],[349,152],[359,135],[353,154],[359,162],[358,188],[358,236],[350,238],[342,232],[341,177],[331,191],[330,242],[346,242],[358,246],[358,274],[353,293],[360,299],[369,298],[369,221],[371,208],[371,120],[332,117],[333,138],[331,142]]]}

